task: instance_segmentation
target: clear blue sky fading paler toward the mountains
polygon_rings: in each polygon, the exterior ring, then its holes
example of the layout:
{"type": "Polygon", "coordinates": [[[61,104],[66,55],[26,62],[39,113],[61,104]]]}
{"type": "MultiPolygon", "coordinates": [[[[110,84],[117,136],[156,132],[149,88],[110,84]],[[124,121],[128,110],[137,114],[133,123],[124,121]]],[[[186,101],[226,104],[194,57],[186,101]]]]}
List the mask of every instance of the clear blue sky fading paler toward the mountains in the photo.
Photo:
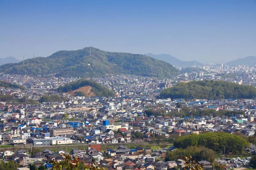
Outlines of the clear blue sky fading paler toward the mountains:
{"type": "Polygon", "coordinates": [[[256,0],[0,0],[0,58],[93,46],[224,63],[256,56],[256,0]]]}

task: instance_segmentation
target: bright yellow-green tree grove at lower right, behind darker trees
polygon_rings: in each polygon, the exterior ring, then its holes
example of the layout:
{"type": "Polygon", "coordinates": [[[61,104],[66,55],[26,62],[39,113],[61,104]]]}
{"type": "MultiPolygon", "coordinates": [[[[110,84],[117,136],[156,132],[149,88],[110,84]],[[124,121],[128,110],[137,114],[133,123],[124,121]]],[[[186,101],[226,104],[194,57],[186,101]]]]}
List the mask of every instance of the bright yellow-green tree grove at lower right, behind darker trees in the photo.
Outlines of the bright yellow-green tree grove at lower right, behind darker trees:
{"type": "Polygon", "coordinates": [[[230,133],[202,133],[181,136],[174,141],[174,146],[183,148],[189,146],[204,146],[218,153],[242,154],[244,148],[249,147],[249,142],[241,136],[230,133]]]}

